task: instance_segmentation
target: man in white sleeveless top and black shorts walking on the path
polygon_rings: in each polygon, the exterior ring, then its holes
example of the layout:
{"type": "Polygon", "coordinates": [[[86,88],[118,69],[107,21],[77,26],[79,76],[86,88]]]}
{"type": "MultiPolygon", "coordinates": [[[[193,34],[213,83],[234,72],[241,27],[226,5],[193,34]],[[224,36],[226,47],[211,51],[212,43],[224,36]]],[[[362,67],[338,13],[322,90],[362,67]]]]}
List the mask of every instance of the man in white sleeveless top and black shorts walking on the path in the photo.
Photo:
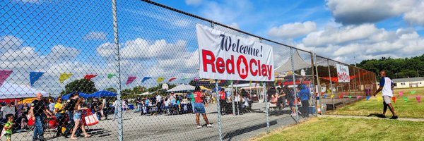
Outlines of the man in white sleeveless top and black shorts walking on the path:
{"type": "Polygon", "coordinates": [[[393,114],[393,116],[391,116],[390,119],[397,119],[398,116],[396,116],[396,113],[394,113],[394,108],[391,105],[391,97],[393,97],[393,82],[391,81],[391,79],[389,77],[387,77],[387,73],[386,71],[380,71],[380,75],[382,75],[382,79],[380,80],[380,86],[378,88],[378,90],[374,93],[374,97],[375,94],[377,94],[378,92],[382,92],[383,95],[383,117],[386,117],[386,111],[387,111],[387,107],[389,107],[391,114],[393,114]]]}

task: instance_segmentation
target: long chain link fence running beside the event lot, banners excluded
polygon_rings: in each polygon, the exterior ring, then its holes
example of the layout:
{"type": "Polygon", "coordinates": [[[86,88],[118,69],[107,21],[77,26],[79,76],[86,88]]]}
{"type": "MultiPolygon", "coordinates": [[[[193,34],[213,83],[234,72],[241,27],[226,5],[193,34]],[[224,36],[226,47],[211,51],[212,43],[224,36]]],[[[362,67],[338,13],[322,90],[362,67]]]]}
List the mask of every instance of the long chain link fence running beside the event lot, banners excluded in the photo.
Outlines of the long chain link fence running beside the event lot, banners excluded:
{"type": "Polygon", "coordinates": [[[246,140],[376,89],[375,73],[152,1],[0,6],[0,124],[11,140],[246,140]],[[199,78],[196,24],[271,45],[276,80],[199,78]]]}

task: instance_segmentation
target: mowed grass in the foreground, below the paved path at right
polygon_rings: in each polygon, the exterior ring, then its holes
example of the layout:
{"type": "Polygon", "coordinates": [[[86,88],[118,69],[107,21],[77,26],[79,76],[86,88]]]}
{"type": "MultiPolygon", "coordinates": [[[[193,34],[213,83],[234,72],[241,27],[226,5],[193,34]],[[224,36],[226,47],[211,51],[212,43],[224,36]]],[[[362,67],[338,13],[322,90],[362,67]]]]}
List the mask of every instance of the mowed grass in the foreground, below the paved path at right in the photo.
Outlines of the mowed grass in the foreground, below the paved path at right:
{"type": "Polygon", "coordinates": [[[312,118],[252,140],[424,140],[424,122],[365,118],[312,118]]]}

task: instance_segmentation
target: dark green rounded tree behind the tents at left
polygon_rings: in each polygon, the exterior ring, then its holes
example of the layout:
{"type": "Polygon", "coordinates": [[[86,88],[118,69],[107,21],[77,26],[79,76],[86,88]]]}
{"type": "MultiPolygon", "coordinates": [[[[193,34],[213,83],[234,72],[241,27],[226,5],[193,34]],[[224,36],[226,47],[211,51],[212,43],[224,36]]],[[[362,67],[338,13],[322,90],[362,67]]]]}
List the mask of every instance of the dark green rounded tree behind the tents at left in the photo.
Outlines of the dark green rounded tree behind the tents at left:
{"type": "Polygon", "coordinates": [[[86,94],[91,94],[93,92],[97,92],[98,90],[95,88],[95,84],[91,80],[80,79],[69,82],[65,86],[65,90],[60,92],[61,95],[70,94],[71,92],[83,92],[86,94]]]}

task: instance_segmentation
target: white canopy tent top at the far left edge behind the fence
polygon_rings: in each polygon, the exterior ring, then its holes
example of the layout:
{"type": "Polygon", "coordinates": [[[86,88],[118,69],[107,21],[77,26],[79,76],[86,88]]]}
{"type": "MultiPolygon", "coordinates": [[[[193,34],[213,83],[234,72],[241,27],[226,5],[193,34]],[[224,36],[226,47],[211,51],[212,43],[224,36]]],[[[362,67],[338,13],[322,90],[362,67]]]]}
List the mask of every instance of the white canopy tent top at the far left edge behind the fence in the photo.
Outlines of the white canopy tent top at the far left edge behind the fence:
{"type": "Polygon", "coordinates": [[[0,87],[0,99],[37,97],[37,94],[47,96],[47,92],[36,90],[28,85],[16,85],[4,82],[0,87]]]}

